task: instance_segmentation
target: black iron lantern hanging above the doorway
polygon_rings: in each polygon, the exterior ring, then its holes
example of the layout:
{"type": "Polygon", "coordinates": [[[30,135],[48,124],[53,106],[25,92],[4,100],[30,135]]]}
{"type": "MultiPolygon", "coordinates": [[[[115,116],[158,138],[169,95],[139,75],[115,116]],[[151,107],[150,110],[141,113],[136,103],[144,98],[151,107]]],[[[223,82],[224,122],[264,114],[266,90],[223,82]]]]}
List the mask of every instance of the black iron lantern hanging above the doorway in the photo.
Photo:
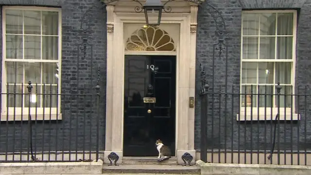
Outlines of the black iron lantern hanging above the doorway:
{"type": "Polygon", "coordinates": [[[145,11],[147,26],[158,26],[161,23],[162,9],[161,0],[147,0],[143,9],[145,11]]]}

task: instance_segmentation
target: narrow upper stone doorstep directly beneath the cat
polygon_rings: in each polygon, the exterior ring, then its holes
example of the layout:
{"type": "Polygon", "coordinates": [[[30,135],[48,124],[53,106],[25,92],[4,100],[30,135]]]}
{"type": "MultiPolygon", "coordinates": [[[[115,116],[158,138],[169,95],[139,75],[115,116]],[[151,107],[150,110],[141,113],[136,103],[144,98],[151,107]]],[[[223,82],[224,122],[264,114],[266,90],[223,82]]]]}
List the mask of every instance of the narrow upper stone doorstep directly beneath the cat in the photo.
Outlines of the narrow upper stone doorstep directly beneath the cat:
{"type": "Polygon", "coordinates": [[[158,165],[168,165],[177,164],[177,157],[171,157],[170,159],[158,162],[157,157],[122,157],[123,164],[158,164],[158,165]]]}

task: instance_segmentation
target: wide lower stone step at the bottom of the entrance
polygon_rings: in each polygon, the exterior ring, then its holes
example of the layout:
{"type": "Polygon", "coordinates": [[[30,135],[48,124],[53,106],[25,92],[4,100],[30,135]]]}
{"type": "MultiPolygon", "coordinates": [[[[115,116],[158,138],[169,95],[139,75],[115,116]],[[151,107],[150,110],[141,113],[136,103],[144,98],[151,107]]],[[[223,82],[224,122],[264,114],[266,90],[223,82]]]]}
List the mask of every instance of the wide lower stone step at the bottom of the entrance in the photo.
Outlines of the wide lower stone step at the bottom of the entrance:
{"type": "Polygon", "coordinates": [[[104,164],[103,174],[184,174],[200,175],[201,170],[197,166],[182,165],[148,165],[148,164],[121,164],[108,166],[104,164]]]}

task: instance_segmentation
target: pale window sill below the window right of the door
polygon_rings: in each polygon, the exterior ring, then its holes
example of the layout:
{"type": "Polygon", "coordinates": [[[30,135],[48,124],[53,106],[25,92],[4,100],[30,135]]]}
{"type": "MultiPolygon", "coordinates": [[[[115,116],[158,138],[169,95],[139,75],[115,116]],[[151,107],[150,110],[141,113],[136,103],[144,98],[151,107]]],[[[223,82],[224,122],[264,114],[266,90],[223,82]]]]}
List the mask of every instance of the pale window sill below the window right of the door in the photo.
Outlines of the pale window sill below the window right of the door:
{"type": "MultiPolygon", "coordinates": [[[[277,121],[278,119],[276,119],[276,114],[277,113],[273,113],[272,115],[271,114],[255,114],[253,113],[253,115],[251,115],[250,113],[246,114],[245,113],[241,113],[241,115],[237,114],[237,121],[277,121]],[[240,118],[239,118],[240,116],[240,118]]],[[[300,120],[300,114],[296,114],[296,113],[293,113],[293,115],[289,112],[288,114],[284,115],[283,114],[280,114],[279,116],[280,118],[280,121],[298,121],[300,120]]]]}

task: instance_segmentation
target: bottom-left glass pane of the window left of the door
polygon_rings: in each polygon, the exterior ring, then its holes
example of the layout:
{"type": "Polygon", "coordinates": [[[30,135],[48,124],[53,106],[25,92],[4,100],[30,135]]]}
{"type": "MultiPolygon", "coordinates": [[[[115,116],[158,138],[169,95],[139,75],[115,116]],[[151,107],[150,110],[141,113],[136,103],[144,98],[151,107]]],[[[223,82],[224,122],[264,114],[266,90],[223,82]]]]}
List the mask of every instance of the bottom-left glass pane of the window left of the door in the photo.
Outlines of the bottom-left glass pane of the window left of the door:
{"type": "MultiPolygon", "coordinates": [[[[9,85],[8,89],[9,94],[8,95],[8,107],[21,107],[22,106],[22,86],[21,85],[9,85]],[[17,94],[18,93],[18,94],[17,94]]],[[[6,93],[6,92],[5,92],[6,93]]],[[[16,111],[20,112],[20,111],[16,111]]]]}

